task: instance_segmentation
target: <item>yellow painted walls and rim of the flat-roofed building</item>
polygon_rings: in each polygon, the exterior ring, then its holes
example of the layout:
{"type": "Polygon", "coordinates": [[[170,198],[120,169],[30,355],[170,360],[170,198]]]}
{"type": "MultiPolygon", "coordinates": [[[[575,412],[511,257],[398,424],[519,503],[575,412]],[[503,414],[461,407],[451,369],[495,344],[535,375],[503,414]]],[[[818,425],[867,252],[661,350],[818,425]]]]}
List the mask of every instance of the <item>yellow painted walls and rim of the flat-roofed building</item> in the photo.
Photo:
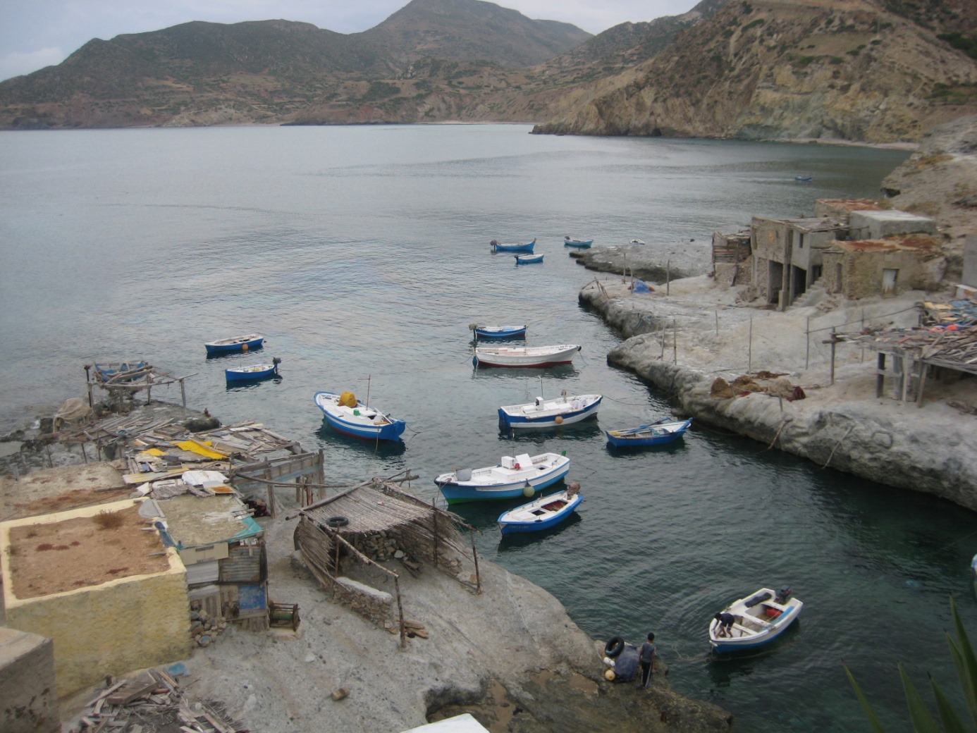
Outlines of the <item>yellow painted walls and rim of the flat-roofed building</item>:
{"type": "Polygon", "coordinates": [[[87,687],[106,674],[163,665],[190,656],[187,570],[167,550],[169,570],[121,578],[38,598],[17,598],[10,578],[10,529],[34,523],[94,516],[132,506],[132,500],[28,517],[0,524],[7,625],[54,639],[59,697],[87,687]]]}

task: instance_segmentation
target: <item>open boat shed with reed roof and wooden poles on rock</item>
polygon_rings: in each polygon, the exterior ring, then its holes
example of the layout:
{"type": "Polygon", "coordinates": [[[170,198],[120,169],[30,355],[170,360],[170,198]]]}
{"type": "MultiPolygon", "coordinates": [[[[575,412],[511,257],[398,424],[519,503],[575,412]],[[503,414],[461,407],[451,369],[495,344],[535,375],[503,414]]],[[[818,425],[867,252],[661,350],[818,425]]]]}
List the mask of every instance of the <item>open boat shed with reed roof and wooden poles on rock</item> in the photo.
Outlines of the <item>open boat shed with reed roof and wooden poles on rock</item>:
{"type": "Polygon", "coordinates": [[[475,543],[467,549],[460,529],[473,532],[460,517],[380,479],[358,484],[299,509],[295,548],[333,598],[373,624],[407,626],[400,575],[388,566],[419,575],[424,566],[481,592],[475,543]],[[374,583],[394,582],[391,593],[374,583]],[[395,606],[396,603],[396,606],[395,606]]]}

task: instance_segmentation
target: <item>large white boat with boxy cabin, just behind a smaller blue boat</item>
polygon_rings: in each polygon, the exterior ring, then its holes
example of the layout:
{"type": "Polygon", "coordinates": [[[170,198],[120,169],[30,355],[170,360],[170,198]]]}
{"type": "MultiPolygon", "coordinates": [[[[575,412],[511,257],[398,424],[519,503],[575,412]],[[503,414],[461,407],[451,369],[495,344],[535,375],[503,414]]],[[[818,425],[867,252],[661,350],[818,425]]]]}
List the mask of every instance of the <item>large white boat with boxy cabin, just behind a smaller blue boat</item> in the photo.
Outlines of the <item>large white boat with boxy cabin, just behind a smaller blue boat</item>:
{"type": "Polygon", "coordinates": [[[532,496],[567,475],[570,458],[561,453],[503,455],[501,462],[441,474],[434,483],[447,503],[532,496]]]}

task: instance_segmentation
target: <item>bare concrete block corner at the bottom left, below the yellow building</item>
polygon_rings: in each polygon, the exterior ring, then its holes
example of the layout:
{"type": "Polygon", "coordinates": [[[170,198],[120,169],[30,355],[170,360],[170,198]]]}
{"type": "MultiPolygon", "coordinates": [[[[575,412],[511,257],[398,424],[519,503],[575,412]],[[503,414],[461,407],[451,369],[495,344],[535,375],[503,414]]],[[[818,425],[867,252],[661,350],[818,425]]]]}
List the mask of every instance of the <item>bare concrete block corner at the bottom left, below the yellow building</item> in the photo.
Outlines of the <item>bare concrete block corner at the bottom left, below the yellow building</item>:
{"type": "Polygon", "coordinates": [[[0,626],[0,730],[61,731],[51,639],[0,626]]]}

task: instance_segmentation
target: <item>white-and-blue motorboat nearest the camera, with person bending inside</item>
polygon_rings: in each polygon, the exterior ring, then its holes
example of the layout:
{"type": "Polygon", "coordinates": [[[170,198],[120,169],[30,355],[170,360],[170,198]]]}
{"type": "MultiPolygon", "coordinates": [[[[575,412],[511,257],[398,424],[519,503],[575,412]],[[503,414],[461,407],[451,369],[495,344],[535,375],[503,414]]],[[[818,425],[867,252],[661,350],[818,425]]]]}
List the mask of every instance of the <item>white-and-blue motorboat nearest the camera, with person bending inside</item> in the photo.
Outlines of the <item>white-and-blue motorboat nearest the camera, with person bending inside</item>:
{"type": "Polygon", "coordinates": [[[733,623],[725,631],[723,623],[713,618],[709,622],[709,644],[720,653],[754,649],[768,644],[800,616],[804,604],[790,598],[790,588],[778,591],[760,588],[746,598],[733,601],[722,613],[733,616],[733,623]]]}

